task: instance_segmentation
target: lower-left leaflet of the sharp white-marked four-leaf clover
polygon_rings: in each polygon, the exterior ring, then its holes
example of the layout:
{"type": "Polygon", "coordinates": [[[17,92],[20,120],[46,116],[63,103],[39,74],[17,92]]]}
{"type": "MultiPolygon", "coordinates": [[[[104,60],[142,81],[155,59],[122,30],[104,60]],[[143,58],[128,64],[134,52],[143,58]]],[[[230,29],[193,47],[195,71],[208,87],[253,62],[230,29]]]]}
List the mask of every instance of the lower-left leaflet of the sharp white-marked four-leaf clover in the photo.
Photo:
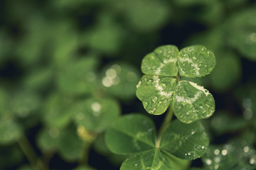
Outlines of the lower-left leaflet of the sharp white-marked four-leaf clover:
{"type": "Polygon", "coordinates": [[[136,95],[148,113],[159,115],[170,106],[175,86],[173,77],[146,74],[137,84],[136,95]]]}

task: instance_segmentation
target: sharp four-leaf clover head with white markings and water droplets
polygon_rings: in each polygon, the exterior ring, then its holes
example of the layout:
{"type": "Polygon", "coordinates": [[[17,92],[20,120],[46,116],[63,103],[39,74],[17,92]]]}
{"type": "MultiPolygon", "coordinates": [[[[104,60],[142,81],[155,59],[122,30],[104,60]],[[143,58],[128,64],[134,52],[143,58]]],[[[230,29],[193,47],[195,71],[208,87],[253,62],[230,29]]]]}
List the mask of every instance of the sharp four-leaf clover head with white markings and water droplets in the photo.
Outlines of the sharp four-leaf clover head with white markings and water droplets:
{"type": "Polygon", "coordinates": [[[142,60],[145,74],[137,84],[136,95],[148,113],[160,115],[170,104],[183,123],[209,118],[215,111],[213,96],[203,86],[180,77],[203,77],[215,67],[215,56],[202,45],[183,48],[164,45],[142,60]]]}

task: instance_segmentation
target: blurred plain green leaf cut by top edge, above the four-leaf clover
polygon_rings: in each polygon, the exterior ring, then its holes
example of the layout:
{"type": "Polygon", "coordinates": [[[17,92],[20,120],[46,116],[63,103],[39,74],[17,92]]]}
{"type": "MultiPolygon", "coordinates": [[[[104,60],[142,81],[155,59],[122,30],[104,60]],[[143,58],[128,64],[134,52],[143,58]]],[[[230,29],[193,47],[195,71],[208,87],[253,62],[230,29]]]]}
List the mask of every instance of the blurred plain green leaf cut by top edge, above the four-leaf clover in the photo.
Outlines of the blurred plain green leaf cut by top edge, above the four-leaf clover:
{"type": "Polygon", "coordinates": [[[119,11],[124,12],[129,25],[139,32],[158,30],[171,13],[171,7],[164,1],[126,0],[114,3],[119,11]]]}

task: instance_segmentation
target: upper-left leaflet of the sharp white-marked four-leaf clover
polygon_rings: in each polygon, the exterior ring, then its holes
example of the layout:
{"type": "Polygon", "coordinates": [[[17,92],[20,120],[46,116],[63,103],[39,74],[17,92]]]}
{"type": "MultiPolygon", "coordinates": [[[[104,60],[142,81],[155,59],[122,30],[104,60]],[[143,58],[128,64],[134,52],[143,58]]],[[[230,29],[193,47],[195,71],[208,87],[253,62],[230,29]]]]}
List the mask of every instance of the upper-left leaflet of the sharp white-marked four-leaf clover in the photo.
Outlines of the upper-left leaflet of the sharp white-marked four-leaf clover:
{"type": "Polygon", "coordinates": [[[174,45],[164,45],[146,55],[142,60],[142,72],[174,77],[178,74],[177,59],[180,53],[174,45]]]}

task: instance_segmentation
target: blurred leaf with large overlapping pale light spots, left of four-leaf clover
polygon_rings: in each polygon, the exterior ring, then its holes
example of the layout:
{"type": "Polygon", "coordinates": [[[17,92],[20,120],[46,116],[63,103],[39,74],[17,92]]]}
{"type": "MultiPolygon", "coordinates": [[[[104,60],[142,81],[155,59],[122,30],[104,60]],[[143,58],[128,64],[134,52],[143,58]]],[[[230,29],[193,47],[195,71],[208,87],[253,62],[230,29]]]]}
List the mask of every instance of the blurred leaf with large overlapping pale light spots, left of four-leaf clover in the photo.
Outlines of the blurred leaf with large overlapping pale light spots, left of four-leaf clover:
{"type": "Polygon", "coordinates": [[[118,98],[134,97],[136,84],[139,81],[139,72],[132,65],[119,63],[112,64],[103,70],[101,84],[108,94],[118,98]]]}

